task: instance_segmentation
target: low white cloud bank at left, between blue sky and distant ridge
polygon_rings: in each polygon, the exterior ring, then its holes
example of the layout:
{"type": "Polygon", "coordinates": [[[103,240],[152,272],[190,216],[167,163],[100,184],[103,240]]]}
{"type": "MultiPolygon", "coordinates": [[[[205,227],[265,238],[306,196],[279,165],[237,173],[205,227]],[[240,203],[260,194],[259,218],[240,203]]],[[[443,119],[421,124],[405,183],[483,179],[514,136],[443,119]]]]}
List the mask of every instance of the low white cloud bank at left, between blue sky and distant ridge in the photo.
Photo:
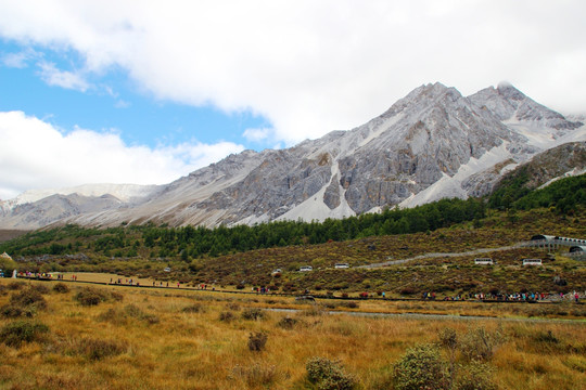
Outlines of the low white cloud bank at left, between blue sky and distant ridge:
{"type": "Polygon", "coordinates": [[[63,133],[22,112],[0,113],[0,199],[80,183],[169,183],[244,150],[231,142],[129,146],[112,131],[63,133]]]}

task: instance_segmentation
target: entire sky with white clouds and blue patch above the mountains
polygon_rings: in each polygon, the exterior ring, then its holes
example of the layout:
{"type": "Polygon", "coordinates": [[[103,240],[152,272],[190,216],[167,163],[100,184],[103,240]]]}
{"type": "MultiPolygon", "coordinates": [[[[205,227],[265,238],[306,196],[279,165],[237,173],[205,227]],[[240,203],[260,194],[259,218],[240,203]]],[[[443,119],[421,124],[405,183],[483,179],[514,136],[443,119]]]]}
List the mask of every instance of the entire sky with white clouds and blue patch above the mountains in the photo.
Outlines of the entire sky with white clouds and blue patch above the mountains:
{"type": "Polygon", "coordinates": [[[0,0],[0,199],[169,183],[440,81],[586,113],[583,0],[0,0]]]}

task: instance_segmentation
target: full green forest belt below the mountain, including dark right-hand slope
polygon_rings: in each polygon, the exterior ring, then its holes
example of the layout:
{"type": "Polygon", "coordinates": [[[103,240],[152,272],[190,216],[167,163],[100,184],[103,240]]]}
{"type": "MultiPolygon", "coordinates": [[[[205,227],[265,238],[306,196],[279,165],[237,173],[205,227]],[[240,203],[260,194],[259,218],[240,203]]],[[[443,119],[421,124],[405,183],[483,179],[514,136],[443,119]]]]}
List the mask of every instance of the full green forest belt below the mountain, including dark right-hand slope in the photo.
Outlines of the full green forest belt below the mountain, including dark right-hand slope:
{"type": "Polygon", "coordinates": [[[0,245],[14,258],[86,253],[107,258],[170,258],[189,261],[255,249],[315,245],[380,235],[435,231],[472,221],[479,226],[487,210],[531,210],[553,207],[572,214],[586,206],[586,176],[566,178],[543,190],[524,186],[526,172],[507,179],[488,199],[442,199],[411,209],[391,209],[324,222],[280,221],[254,226],[120,225],[84,229],[75,225],[40,230],[0,245]]]}

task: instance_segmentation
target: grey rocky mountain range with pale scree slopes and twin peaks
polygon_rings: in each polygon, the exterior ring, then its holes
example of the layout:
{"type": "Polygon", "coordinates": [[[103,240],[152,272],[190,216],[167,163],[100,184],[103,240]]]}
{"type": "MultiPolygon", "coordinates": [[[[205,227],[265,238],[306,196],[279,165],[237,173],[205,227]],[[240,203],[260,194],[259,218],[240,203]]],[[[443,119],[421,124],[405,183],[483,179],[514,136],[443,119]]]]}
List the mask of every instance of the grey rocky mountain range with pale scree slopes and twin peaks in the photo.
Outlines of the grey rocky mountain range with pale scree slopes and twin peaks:
{"type": "Polygon", "coordinates": [[[521,164],[543,184],[586,169],[584,118],[501,83],[462,96],[421,86],[381,116],[286,150],[244,151],[166,185],[82,185],[0,202],[0,229],[324,220],[482,196],[521,164]],[[538,178],[537,178],[538,176],[538,178]]]}

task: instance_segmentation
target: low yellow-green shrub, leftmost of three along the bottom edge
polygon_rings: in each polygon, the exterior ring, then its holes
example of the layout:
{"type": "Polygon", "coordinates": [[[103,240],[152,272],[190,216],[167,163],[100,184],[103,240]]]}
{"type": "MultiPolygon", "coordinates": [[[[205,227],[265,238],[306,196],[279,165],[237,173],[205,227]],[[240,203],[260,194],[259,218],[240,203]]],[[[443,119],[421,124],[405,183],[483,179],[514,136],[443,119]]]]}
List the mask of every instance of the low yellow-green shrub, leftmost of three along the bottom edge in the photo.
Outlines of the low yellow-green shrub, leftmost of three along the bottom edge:
{"type": "Polygon", "coordinates": [[[339,361],[315,356],[305,364],[307,378],[320,390],[351,390],[356,388],[356,380],[344,370],[339,361]]]}

